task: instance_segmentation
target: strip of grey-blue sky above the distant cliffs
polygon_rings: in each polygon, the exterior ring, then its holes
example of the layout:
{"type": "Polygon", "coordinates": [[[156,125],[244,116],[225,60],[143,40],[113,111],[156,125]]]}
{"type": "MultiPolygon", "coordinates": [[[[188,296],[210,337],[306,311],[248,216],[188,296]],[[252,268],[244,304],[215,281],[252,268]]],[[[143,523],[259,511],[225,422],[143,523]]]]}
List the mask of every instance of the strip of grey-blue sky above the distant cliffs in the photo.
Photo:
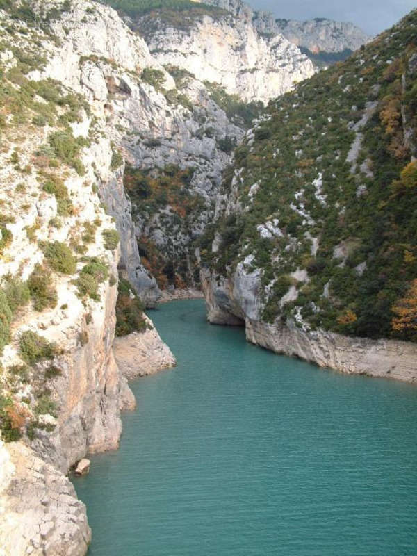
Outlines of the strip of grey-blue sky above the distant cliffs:
{"type": "Polygon", "coordinates": [[[246,0],[254,10],[267,10],[285,19],[328,17],[357,24],[377,35],[417,8],[417,0],[246,0]]]}

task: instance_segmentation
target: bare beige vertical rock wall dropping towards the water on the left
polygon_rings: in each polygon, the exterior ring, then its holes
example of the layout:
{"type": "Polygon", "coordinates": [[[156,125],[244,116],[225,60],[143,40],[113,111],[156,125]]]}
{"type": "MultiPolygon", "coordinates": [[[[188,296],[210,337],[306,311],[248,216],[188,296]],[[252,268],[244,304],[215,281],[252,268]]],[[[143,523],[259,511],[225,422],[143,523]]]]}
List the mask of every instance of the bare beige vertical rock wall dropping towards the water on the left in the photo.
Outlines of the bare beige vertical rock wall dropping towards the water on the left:
{"type": "Polygon", "coordinates": [[[77,322],[72,337],[61,325],[65,355],[55,360],[62,373],[54,380],[61,410],[55,430],[40,431],[31,445],[64,473],[87,452],[114,450],[119,445],[120,400],[125,385],[112,350],[116,296],[117,288],[108,288],[101,304],[91,307],[90,324],[77,322]],[[85,345],[79,339],[81,333],[88,338],[85,345]]]}

